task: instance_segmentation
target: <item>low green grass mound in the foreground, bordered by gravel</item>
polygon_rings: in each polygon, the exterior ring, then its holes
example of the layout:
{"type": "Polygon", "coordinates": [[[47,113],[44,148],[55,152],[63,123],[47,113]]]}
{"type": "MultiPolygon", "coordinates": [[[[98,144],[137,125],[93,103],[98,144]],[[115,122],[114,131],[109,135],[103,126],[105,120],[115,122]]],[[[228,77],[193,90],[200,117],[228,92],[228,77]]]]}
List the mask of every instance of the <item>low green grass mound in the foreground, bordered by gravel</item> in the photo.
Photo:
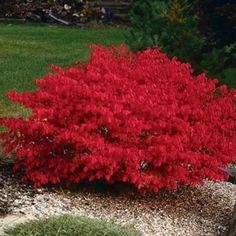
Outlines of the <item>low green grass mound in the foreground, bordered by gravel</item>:
{"type": "Polygon", "coordinates": [[[113,223],[76,216],[30,221],[5,231],[6,236],[138,236],[138,232],[113,223]]]}

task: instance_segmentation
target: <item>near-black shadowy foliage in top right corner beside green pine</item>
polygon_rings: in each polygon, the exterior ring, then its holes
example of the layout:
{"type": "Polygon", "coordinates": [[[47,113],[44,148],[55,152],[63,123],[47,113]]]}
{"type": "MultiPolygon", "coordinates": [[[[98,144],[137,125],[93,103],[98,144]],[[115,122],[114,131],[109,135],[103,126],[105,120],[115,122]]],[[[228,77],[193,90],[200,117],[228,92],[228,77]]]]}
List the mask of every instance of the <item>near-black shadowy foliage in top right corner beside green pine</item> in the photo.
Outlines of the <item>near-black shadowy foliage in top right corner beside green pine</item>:
{"type": "Polygon", "coordinates": [[[235,0],[192,0],[193,13],[199,17],[199,29],[207,37],[207,46],[222,48],[236,42],[235,0]]]}

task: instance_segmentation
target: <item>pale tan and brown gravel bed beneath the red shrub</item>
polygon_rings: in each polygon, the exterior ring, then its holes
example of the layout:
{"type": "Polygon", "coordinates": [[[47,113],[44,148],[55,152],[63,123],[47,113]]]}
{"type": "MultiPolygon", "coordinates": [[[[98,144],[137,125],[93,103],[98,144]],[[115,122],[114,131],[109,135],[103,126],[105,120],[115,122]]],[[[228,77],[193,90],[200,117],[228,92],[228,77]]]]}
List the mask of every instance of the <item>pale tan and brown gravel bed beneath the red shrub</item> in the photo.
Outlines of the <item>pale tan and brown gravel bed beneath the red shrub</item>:
{"type": "Polygon", "coordinates": [[[18,179],[0,170],[0,227],[4,215],[33,219],[69,213],[112,220],[144,236],[217,236],[227,231],[236,201],[236,185],[229,182],[205,181],[144,197],[129,186],[34,190],[18,179]]]}

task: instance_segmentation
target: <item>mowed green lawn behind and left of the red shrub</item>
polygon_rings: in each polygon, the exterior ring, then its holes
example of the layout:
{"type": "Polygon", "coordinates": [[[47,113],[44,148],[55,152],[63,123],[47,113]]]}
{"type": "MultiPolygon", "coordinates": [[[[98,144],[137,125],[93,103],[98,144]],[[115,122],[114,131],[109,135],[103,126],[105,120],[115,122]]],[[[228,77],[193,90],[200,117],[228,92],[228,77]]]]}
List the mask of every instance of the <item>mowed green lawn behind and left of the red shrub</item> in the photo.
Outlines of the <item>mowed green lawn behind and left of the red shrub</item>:
{"type": "Polygon", "coordinates": [[[32,91],[34,80],[49,72],[48,66],[86,61],[91,44],[105,46],[124,42],[120,28],[78,28],[58,25],[0,23],[0,112],[24,116],[28,113],[10,103],[9,90],[32,91]]]}

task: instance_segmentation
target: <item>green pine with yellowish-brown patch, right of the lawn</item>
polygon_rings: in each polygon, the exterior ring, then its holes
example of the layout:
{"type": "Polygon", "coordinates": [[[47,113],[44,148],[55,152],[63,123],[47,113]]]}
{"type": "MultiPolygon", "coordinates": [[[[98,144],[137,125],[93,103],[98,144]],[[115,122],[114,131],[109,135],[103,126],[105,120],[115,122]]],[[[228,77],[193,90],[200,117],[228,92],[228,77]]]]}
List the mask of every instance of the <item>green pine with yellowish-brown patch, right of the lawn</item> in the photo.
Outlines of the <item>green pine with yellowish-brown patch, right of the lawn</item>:
{"type": "Polygon", "coordinates": [[[134,51],[158,45],[171,57],[196,60],[205,38],[199,33],[197,17],[188,14],[189,7],[186,0],[135,0],[128,45],[134,51]]]}

